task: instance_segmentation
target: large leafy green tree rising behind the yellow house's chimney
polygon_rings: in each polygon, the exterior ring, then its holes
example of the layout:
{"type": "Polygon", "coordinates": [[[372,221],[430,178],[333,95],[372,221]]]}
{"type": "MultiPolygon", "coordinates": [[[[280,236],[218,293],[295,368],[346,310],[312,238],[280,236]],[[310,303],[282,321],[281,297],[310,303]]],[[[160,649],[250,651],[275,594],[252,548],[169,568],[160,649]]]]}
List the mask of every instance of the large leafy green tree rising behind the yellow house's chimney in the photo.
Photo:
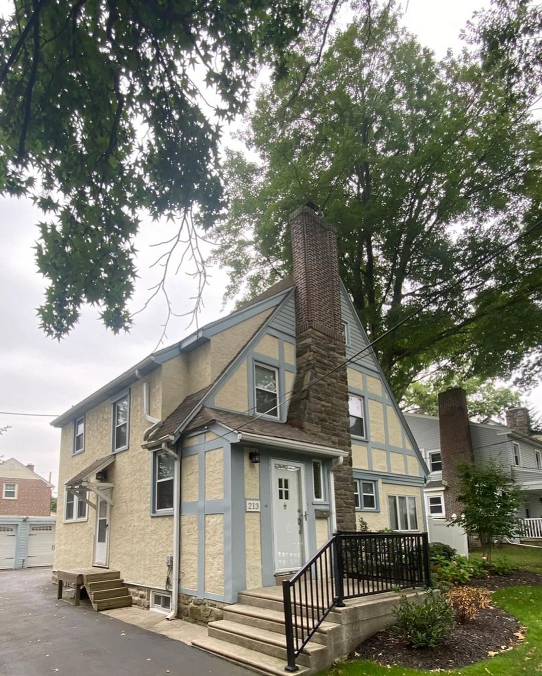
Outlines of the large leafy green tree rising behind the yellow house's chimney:
{"type": "Polygon", "coordinates": [[[483,378],[523,368],[524,382],[535,378],[542,364],[535,25],[526,3],[498,6],[470,27],[470,46],[438,62],[387,3],[337,35],[300,91],[306,59],[298,50],[291,77],[260,93],[245,131],[262,162],[230,153],[230,210],[216,256],[232,270],[228,293],[247,280],[253,293],[289,273],[287,216],[310,199],[339,228],[341,276],[371,338],[423,308],[376,345],[399,397],[430,365],[483,378]],[[491,43],[499,31],[509,38],[501,51],[491,43]],[[473,266],[533,226],[501,256],[473,266]],[[453,286],[468,266],[472,274],[453,286]],[[439,295],[443,288],[451,290],[439,295]]]}

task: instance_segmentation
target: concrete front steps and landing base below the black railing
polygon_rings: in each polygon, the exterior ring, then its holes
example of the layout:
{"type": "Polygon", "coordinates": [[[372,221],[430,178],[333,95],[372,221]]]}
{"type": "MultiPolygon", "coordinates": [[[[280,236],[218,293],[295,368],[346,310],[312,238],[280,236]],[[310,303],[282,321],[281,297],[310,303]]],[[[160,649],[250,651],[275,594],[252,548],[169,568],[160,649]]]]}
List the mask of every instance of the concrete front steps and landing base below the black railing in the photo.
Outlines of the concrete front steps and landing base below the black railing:
{"type": "MultiPolygon", "coordinates": [[[[421,591],[405,593],[412,596],[421,591]]],[[[385,592],[349,600],[345,608],[332,610],[297,658],[296,673],[312,676],[337,658],[347,657],[364,639],[389,625],[398,600],[395,592],[385,592]]],[[[239,603],[226,606],[224,619],[210,623],[207,631],[207,637],[197,639],[193,646],[257,673],[284,676],[287,652],[282,587],[241,592],[239,603]]]]}

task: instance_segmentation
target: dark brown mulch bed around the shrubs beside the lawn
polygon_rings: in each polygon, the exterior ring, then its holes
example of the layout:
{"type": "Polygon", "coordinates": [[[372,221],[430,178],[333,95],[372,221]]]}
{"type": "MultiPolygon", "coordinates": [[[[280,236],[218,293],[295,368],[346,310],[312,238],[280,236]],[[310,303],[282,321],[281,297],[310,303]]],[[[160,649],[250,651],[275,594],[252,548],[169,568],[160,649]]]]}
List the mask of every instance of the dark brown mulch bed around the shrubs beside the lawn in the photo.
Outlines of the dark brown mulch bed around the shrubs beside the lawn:
{"type": "MultiPolygon", "coordinates": [[[[514,571],[513,575],[491,575],[470,582],[471,586],[501,589],[521,585],[542,586],[542,575],[514,571]]],[[[457,669],[487,659],[522,641],[523,629],[501,608],[484,608],[478,617],[455,629],[446,641],[433,650],[410,648],[389,630],[380,631],[358,646],[351,658],[372,660],[380,665],[403,665],[412,669],[457,669]]]]}

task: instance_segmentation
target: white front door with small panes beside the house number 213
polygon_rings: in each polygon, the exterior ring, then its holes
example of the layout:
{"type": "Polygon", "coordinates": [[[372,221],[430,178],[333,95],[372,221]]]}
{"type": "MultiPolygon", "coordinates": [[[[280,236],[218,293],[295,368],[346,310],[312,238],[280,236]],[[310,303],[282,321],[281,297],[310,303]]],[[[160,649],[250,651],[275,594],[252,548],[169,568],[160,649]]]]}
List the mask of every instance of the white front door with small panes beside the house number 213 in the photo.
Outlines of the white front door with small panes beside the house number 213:
{"type": "Polygon", "coordinates": [[[303,464],[271,461],[271,502],[275,572],[293,571],[305,562],[307,512],[303,509],[303,464]]]}

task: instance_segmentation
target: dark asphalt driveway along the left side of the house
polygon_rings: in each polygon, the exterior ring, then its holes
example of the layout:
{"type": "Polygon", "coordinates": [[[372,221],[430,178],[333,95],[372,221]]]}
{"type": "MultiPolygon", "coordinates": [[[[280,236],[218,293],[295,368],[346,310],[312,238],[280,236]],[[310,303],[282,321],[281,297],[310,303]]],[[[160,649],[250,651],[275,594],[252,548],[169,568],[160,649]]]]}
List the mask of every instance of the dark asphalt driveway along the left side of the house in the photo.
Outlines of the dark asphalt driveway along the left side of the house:
{"type": "Polygon", "coordinates": [[[57,601],[51,569],[0,571],[0,676],[253,676],[166,636],[57,601]]]}

